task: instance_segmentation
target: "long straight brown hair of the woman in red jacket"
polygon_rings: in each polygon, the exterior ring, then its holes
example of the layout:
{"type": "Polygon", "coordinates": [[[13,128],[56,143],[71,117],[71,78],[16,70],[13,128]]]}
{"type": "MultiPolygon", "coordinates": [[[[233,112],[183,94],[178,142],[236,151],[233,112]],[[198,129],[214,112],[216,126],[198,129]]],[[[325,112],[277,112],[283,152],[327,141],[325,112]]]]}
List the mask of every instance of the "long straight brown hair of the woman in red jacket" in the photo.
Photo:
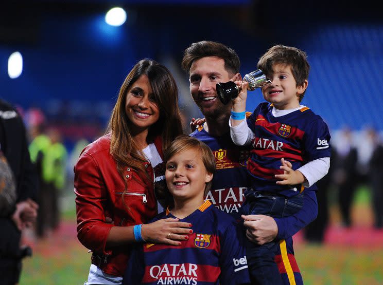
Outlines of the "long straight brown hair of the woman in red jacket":
{"type": "Polygon", "coordinates": [[[146,159],[132,139],[125,109],[127,92],[142,75],[148,77],[155,102],[160,110],[159,120],[149,127],[147,141],[152,142],[156,136],[161,136],[162,148],[165,150],[173,139],[182,134],[176,81],[164,65],[150,59],[139,61],[129,72],[119,90],[107,130],[111,134],[110,153],[116,160],[118,172],[124,180],[122,169],[125,166],[136,170],[141,176],[147,176],[142,163],[146,159]]]}

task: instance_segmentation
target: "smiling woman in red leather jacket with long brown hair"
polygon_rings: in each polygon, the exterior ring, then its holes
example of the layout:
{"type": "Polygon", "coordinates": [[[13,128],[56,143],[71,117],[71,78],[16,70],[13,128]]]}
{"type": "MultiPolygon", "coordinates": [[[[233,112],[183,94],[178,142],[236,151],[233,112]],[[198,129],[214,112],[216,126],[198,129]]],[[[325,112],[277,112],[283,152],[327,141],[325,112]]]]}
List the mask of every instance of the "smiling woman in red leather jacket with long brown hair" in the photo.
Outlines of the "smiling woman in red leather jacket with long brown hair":
{"type": "Polygon", "coordinates": [[[162,150],[182,132],[177,93],[166,67],[138,62],[120,88],[107,135],[80,155],[77,232],[93,252],[85,284],[121,283],[136,242],[179,245],[192,232],[178,219],[144,224],[158,212],[154,183],[164,179],[162,150]]]}

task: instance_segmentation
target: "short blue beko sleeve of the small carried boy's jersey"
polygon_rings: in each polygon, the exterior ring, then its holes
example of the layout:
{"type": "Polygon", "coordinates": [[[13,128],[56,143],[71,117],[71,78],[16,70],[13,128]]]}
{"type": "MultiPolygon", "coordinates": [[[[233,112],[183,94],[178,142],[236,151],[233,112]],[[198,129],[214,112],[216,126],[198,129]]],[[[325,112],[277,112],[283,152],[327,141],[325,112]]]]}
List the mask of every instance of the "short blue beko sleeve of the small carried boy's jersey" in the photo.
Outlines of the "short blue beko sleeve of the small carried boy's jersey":
{"type": "Polygon", "coordinates": [[[330,132],[319,117],[309,124],[304,137],[305,160],[312,161],[331,156],[330,132]]]}

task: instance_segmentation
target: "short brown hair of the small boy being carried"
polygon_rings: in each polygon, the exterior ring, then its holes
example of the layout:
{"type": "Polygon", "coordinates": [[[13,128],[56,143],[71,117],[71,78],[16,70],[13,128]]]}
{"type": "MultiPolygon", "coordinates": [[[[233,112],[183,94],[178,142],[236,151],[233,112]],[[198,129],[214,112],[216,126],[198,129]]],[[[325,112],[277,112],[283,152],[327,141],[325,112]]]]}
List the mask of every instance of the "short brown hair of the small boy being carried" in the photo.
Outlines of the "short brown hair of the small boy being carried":
{"type": "MultiPolygon", "coordinates": [[[[292,75],[297,82],[297,86],[302,86],[308,79],[310,65],[307,61],[307,54],[303,50],[295,47],[275,45],[268,49],[259,58],[257,68],[262,70],[266,77],[273,72],[275,64],[286,64],[291,66],[292,75]]],[[[299,102],[302,101],[306,90],[301,94],[299,102]]]]}

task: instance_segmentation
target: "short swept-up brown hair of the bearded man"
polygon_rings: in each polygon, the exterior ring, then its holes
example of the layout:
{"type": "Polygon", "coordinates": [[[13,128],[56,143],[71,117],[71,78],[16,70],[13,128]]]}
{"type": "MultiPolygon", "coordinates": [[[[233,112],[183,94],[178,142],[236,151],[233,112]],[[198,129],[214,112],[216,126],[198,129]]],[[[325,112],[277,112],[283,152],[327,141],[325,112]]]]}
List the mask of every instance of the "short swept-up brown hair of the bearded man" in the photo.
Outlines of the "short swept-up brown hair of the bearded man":
{"type": "Polygon", "coordinates": [[[230,75],[234,75],[239,72],[241,65],[237,53],[221,43],[211,41],[201,41],[191,44],[183,53],[182,68],[186,72],[190,72],[190,67],[194,61],[206,58],[207,56],[216,56],[222,59],[225,64],[225,70],[230,75]]]}

